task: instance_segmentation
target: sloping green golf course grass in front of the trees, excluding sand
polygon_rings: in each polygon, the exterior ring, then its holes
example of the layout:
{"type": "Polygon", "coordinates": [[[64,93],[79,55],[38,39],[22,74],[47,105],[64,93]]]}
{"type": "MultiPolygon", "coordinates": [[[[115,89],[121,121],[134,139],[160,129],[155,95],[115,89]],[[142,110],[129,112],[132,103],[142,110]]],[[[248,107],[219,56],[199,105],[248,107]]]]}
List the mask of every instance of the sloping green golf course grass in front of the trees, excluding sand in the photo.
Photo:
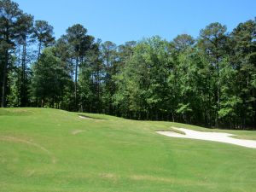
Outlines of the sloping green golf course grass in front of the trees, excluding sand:
{"type": "MultiPolygon", "coordinates": [[[[0,109],[1,192],[253,192],[256,149],[155,133],[169,122],[0,109]],[[103,120],[102,120],[103,119],[103,120]]],[[[256,139],[255,131],[227,131],[256,139]]]]}

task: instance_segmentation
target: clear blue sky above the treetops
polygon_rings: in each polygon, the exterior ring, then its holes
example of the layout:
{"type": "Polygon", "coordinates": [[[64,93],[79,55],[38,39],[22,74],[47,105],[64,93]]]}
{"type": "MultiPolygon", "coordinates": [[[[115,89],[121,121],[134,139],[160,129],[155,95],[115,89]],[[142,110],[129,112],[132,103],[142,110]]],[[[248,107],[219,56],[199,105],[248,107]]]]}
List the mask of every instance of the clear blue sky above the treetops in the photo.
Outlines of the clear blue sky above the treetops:
{"type": "Polygon", "coordinates": [[[255,0],[15,0],[35,20],[47,20],[55,37],[79,23],[102,41],[124,44],[159,35],[172,40],[178,34],[197,37],[211,22],[231,31],[256,16],[255,0]]]}

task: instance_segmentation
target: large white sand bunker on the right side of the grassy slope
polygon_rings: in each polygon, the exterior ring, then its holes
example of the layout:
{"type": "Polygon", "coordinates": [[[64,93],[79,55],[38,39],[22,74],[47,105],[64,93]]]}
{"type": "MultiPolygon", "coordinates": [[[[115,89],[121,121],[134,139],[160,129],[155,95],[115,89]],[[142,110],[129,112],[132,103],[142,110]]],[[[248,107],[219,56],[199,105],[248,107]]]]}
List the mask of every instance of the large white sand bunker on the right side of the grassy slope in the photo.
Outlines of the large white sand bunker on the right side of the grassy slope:
{"type": "Polygon", "coordinates": [[[229,133],[194,131],[194,130],[188,130],[188,129],[177,128],[177,127],[172,127],[172,128],[178,131],[183,131],[185,135],[174,132],[174,131],[156,131],[156,132],[168,137],[200,139],[200,140],[213,141],[213,142],[230,143],[230,144],[240,145],[247,148],[256,148],[256,141],[232,138],[230,136],[235,136],[235,135],[229,134],[229,133]]]}

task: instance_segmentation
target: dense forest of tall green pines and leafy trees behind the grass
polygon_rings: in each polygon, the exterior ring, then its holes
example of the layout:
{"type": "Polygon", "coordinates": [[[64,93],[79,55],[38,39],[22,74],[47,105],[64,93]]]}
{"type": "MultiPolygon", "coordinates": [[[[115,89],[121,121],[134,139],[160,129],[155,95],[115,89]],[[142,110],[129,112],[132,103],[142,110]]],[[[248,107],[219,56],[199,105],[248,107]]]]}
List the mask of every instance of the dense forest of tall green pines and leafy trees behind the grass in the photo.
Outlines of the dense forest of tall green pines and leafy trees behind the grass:
{"type": "MultiPolygon", "coordinates": [[[[79,24],[59,39],[46,20],[0,0],[1,107],[61,108],[207,127],[256,128],[256,20],[198,38],[116,45],[79,24]]],[[[173,26],[175,27],[175,26],[173,26]]]]}

